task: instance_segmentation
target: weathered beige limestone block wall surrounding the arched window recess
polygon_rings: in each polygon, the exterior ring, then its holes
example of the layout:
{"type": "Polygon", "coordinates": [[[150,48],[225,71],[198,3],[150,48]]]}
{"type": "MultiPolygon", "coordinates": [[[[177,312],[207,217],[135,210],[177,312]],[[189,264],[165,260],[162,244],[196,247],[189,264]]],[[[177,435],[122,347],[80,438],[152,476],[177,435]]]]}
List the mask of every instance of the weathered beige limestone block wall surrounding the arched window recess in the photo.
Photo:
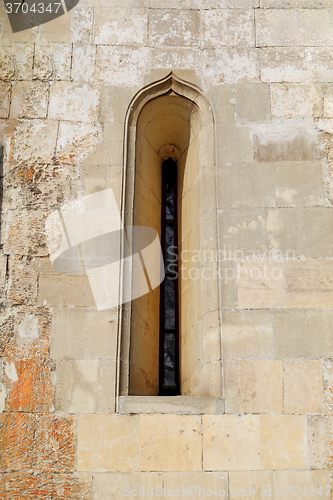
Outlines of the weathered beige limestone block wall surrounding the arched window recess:
{"type": "MultiPolygon", "coordinates": [[[[331,8],[81,0],[13,34],[1,6],[1,498],[330,494],[331,8]],[[126,111],[170,71],[215,117],[225,413],[120,413],[118,311],[49,260],[46,221],[65,202],[112,188],[121,208],[126,111]]],[[[215,327],[203,317],[202,342],[215,327]]]]}

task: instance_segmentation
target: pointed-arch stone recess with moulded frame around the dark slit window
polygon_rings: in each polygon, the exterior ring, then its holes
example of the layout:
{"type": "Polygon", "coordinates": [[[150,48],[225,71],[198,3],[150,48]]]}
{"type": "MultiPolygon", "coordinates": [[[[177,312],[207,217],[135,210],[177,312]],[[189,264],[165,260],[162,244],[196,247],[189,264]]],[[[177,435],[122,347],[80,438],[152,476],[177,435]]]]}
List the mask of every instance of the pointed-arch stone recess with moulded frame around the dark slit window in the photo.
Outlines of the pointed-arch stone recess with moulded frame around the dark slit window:
{"type": "MultiPolygon", "coordinates": [[[[153,220],[154,214],[158,214],[159,203],[156,186],[160,182],[162,161],[166,155],[172,156],[172,148],[180,172],[180,254],[186,254],[190,258],[190,264],[187,259],[181,261],[182,274],[185,276],[181,277],[179,293],[181,394],[221,397],[221,308],[217,259],[214,114],[203,92],[173,72],[140,90],[127,111],[122,195],[122,218],[126,227],[149,225],[158,230],[158,216],[153,220]],[[148,172],[144,171],[147,165],[150,168],[148,172]],[[144,186],[142,189],[149,191],[148,198],[154,200],[154,205],[147,205],[147,196],[140,193],[140,184],[144,186]],[[140,198],[143,201],[141,208],[138,208],[140,198]],[[151,220],[149,215],[141,215],[149,212],[151,220]],[[140,220],[140,217],[145,220],[140,220]],[[199,256],[199,261],[196,259],[195,263],[193,250],[199,256]],[[195,274],[196,279],[189,278],[189,265],[192,264],[195,268],[192,275],[195,274]]],[[[157,322],[155,319],[152,332],[147,337],[147,330],[135,333],[137,326],[133,321],[134,313],[140,316],[138,311],[141,310],[145,311],[143,314],[150,314],[149,321],[154,322],[152,317],[155,313],[152,314],[151,311],[158,310],[157,295],[157,292],[150,292],[147,294],[149,297],[136,299],[139,301],[138,307],[138,302],[133,301],[121,308],[117,372],[121,396],[157,395],[156,356],[154,352],[144,352],[145,346],[147,349],[147,338],[152,339],[157,322]],[[137,338],[134,339],[135,335],[137,338]],[[135,365],[134,358],[138,365],[135,365]],[[135,377],[131,377],[133,370],[135,377]],[[140,381],[134,384],[132,382],[134,379],[138,381],[140,377],[141,388],[140,381]],[[146,387],[145,390],[142,390],[143,386],[146,387]]],[[[140,323],[142,318],[137,318],[140,323]]],[[[152,351],[156,351],[154,341],[152,351]]]]}

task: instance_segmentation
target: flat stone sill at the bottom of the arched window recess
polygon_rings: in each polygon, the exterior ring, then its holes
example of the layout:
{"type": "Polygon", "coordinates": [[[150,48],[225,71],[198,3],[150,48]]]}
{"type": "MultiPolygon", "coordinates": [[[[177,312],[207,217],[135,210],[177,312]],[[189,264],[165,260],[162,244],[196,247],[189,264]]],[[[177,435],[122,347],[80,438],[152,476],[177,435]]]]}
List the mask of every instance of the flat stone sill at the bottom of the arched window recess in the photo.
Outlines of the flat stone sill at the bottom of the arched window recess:
{"type": "Polygon", "coordinates": [[[211,396],[120,396],[119,413],[221,415],[224,399],[211,396]]]}

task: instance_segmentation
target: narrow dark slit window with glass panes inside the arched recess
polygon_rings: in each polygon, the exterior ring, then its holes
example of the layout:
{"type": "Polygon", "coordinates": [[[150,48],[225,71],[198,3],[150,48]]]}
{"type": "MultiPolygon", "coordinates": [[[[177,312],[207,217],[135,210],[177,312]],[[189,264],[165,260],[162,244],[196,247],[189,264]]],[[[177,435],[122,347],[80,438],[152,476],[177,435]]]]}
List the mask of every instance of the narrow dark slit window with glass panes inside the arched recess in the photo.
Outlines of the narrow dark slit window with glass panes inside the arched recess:
{"type": "Polygon", "coordinates": [[[178,219],[177,164],[172,158],[162,164],[161,243],[165,279],[160,285],[159,394],[179,392],[179,307],[178,307],[178,219]]]}

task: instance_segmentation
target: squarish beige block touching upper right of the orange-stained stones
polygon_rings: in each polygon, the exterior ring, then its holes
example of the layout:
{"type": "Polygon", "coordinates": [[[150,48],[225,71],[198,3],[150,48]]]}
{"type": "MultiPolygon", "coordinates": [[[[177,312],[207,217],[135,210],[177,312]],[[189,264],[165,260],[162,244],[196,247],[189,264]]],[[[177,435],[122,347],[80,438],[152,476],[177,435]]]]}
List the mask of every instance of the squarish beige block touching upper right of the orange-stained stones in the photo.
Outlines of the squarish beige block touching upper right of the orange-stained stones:
{"type": "MultiPolygon", "coordinates": [[[[87,310],[74,307],[54,307],[50,355],[54,359],[81,359],[86,354],[87,310]]],[[[89,356],[93,357],[93,356],[89,356]]]]}

